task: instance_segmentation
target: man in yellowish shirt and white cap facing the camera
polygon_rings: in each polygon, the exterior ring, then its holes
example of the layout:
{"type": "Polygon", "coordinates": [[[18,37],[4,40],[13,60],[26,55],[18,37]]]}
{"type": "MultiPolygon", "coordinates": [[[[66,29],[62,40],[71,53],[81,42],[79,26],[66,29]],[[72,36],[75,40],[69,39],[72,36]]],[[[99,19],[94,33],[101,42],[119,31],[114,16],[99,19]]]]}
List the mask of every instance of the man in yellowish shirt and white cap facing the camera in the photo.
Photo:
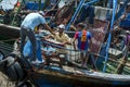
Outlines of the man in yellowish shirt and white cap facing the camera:
{"type": "MultiPolygon", "coordinates": [[[[61,45],[64,46],[66,49],[66,45],[67,44],[70,45],[72,42],[70,42],[70,38],[68,37],[68,35],[64,33],[65,25],[64,24],[58,25],[57,29],[58,29],[57,33],[53,33],[53,35],[48,36],[48,38],[53,37],[54,40],[61,42],[61,45]]],[[[58,55],[60,54],[65,55],[65,58],[64,58],[65,62],[63,61],[64,64],[67,63],[67,60],[68,60],[67,50],[65,50],[65,49],[57,49],[56,50],[58,55]]]]}

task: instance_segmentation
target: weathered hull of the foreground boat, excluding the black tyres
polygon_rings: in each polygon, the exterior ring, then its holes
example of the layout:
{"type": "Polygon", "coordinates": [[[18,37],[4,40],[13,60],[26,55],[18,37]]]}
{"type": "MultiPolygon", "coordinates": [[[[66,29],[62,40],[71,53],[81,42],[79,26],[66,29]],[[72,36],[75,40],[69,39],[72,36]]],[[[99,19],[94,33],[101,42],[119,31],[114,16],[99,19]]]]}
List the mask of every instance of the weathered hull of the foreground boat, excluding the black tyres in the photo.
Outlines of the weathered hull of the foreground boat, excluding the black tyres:
{"type": "Polygon", "coordinates": [[[38,71],[32,78],[35,82],[42,86],[44,84],[61,84],[68,86],[129,86],[130,76],[106,74],[99,72],[89,72],[84,75],[65,72],[63,70],[41,70],[38,71]],[[61,73],[62,72],[62,73],[61,73]]]}

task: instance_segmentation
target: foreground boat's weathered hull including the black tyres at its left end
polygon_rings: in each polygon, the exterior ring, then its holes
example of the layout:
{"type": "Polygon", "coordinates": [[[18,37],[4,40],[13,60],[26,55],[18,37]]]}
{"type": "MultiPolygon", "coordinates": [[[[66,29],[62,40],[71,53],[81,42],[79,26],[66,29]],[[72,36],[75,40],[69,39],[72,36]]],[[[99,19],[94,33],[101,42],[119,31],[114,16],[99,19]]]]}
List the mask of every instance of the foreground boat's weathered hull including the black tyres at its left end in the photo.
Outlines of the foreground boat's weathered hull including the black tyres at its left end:
{"type": "MultiPolygon", "coordinates": [[[[53,62],[51,62],[51,65],[49,66],[31,65],[27,60],[21,59],[20,53],[17,53],[17,51],[13,51],[10,55],[8,55],[4,59],[3,58],[4,55],[1,52],[1,58],[3,60],[0,62],[0,65],[1,67],[4,67],[2,65],[5,65],[4,70],[6,71],[4,71],[3,73],[8,75],[12,82],[17,82],[17,80],[23,82],[21,85],[27,85],[27,86],[28,83],[32,83],[36,87],[42,87],[44,85],[47,86],[53,85],[56,87],[61,87],[63,85],[66,87],[68,85],[82,86],[82,87],[104,86],[104,85],[109,87],[109,86],[130,85],[129,74],[128,75],[116,74],[116,73],[114,74],[109,72],[103,73],[101,72],[101,70],[99,72],[98,71],[95,72],[95,71],[82,69],[80,66],[80,63],[76,62],[76,59],[79,55],[76,55],[74,53],[75,51],[69,52],[69,54],[73,57],[69,58],[70,59],[69,64],[62,65],[62,67],[60,67],[58,64],[53,62]]],[[[52,55],[50,58],[54,59],[55,57],[52,55]]],[[[101,58],[99,58],[99,60],[101,58]]],[[[109,58],[109,60],[112,59],[109,58]]],[[[108,69],[109,67],[110,66],[108,66],[108,69]]]]}

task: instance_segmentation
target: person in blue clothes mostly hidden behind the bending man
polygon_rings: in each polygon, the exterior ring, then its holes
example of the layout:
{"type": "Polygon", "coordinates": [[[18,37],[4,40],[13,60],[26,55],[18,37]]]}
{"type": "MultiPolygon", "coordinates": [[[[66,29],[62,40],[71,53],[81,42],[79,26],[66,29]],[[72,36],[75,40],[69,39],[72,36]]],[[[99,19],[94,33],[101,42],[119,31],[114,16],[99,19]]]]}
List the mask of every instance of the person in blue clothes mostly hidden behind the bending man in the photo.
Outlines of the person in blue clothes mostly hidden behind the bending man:
{"type": "MultiPolygon", "coordinates": [[[[41,39],[40,39],[40,35],[39,35],[41,28],[42,28],[42,26],[39,25],[37,27],[37,29],[35,29],[36,57],[37,57],[37,59],[36,59],[36,61],[31,62],[34,64],[39,64],[39,63],[43,63],[44,62],[44,60],[43,60],[43,58],[41,55],[41,39]]],[[[30,40],[27,40],[27,42],[25,44],[23,53],[24,53],[24,57],[29,58],[28,60],[31,60],[31,57],[32,57],[32,45],[31,45],[30,40]]]]}

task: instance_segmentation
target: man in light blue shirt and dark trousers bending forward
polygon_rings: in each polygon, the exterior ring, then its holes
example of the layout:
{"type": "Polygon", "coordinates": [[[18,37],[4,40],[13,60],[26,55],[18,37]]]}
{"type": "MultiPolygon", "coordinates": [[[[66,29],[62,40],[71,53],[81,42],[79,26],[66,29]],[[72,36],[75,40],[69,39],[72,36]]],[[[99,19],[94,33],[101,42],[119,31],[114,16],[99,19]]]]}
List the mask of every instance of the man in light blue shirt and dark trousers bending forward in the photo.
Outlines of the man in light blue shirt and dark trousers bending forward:
{"type": "Polygon", "coordinates": [[[26,37],[30,40],[32,45],[32,59],[31,61],[36,61],[36,37],[35,29],[37,26],[43,25],[48,30],[52,32],[50,26],[46,23],[44,12],[39,11],[38,13],[29,13],[23,21],[21,25],[21,55],[23,54],[24,44],[26,37]]]}

